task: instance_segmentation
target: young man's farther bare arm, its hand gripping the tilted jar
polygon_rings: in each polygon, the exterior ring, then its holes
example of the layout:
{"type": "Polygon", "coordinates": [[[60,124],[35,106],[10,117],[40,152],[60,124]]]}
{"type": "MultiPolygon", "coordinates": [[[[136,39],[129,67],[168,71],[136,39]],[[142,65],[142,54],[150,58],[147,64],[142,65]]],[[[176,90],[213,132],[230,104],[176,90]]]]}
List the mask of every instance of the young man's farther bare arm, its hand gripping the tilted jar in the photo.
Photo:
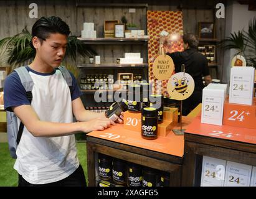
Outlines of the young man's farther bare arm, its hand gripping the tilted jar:
{"type": "MultiPolygon", "coordinates": [[[[73,115],[77,121],[90,121],[95,118],[106,118],[105,113],[93,113],[91,111],[85,110],[82,100],[80,98],[74,99],[72,101],[73,115]]],[[[121,115],[120,118],[123,118],[121,115]]],[[[118,123],[122,124],[123,120],[118,118],[118,123]]]]}

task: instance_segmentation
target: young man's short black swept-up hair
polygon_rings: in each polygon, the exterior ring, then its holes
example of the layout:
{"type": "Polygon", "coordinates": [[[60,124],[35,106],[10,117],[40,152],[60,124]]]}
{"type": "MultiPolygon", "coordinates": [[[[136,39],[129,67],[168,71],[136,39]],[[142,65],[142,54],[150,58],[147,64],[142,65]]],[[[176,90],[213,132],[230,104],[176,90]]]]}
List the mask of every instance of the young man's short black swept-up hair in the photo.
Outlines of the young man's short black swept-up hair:
{"type": "MultiPolygon", "coordinates": [[[[35,22],[32,27],[32,38],[38,37],[41,42],[49,37],[49,34],[59,33],[69,36],[70,29],[60,17],[41,17],[35,22]]],[[[31,47],[34,49],[34,46],[31,41],[31,47]]]]}

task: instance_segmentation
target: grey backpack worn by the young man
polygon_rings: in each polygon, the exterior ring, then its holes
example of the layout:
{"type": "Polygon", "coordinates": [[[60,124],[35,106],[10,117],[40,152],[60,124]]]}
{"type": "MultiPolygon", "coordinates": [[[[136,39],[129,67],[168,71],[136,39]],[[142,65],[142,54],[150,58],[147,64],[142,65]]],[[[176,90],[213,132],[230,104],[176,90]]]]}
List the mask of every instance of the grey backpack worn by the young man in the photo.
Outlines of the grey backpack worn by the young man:
{"type": "MultiPolygon", "coordinates": [[[[72,76],[70,75],[69,71],[65,67],[59,67],[57,69],[59,69],[62,75],[64,76],[64,79],[66,80],[67,85],[69,85],[70,93],[72,95],[72,76]]],[[[32,89],[34,86],[34,82],[31,76],[29,75],[27,68],[19,67],[14,70],[19,75],[19,78],[21,79],[21,83],[26,90],[27,99],[29,99],[29,102],[31,103],[32,97],[33,97],[32,89]]],[[[11,153],[11,157],[16,159],[17,158],[16,150],[17,150],[19,141],[21,141],[21,135],[24,129],[24,124],[20,123],[19,129],[18,129],[17,116],[11,111],[6,111],[6,116],[7,116],[7,136],[8,136],[9,150],[11,153]]]]}

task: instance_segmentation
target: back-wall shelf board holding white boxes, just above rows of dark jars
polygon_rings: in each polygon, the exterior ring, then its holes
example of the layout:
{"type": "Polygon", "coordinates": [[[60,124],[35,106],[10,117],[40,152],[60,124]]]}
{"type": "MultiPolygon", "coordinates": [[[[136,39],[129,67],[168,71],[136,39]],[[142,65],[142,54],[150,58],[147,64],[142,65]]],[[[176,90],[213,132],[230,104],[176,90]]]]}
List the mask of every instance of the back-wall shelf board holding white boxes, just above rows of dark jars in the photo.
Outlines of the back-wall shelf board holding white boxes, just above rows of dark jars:
{"type": "Polygon", "coordinates": [[[125,63],[102,63],[102,64],[82,64],[78,65],[78,68],[130,68],[130,67],[148,67],[148,63],[136,63],[136,64],[125,64],[125,63]]]}

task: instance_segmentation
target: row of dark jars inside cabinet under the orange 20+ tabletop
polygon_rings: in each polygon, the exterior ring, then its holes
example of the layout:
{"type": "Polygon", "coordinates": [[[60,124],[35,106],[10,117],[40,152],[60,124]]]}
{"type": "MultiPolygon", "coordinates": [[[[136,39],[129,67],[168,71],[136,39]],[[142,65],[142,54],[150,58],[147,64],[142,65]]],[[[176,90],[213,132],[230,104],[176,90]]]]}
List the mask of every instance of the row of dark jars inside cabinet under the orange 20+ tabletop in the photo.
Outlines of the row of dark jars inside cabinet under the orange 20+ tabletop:
{"type": "Polygon", "coordinates": [[[169,173],[98,154],[100,186],[169,187],[169,173]]]}

